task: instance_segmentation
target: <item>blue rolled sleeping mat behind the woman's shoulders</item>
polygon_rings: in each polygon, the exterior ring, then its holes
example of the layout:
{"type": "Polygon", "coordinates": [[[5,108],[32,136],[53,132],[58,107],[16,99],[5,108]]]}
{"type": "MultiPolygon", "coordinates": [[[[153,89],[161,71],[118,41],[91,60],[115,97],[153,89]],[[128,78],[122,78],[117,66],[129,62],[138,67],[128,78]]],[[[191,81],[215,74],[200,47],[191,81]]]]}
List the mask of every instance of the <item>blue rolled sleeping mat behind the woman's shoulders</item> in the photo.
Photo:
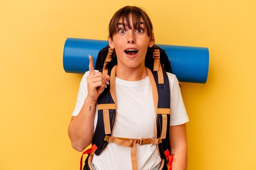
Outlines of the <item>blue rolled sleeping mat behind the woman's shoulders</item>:
{"type": "MultiPolygon", "coordinates": [[[[63,50],[65,72],[84,74],[89,70],[89,57],[94,65],[98,52],[108,45],[106,40],[67,38],[63,50]]],[[[205,47],[156,44],[164,49],[173,74],[181,82],[206,83],[209,69],[209,50],[205,47]]]]}

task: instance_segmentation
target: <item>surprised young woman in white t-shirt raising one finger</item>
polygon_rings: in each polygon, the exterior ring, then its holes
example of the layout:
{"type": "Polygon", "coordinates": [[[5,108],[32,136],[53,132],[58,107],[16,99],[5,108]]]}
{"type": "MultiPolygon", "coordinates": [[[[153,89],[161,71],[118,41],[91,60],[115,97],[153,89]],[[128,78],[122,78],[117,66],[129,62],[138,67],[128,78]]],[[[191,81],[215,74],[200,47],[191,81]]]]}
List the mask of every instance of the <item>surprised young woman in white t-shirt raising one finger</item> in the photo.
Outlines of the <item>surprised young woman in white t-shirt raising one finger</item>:
{"type": "MultiPolygon", "coordinates": [[[[166,166],[161,166],[162,159],[157,146],[159,143],[148,142],[141,145],[138,142],[141,139],[146,142],[157,140],[155,96],[150,79],[152,73],[145,66],[147,50],[155,44],[153,26],[148,15],[138,7],[127,6],[119,9],[110,20],[108,40],[110,48],[114,49],[111,62],[117,65],[111,68],[109,64],[109,70],[112,69],[110,80],[108,74],[104,75],[94,70],[93,59],[89,56],[89,71],[81,80],[76,107],[68,128],[72,147],[83,151],[91,143],[97,143],[94,141],[97,132],[103,131],[104,134],[106,127],[100,129],[97,126],[97,122],[103,121],[98,113],[100,110],[98,103],[99,98],[103,98],[101,97],[103,91],[106,92],[107,87],[110,86],[111,95],[115,94],[113,97],[116,107],[115,128],[111,129],[111,136],[115,138],[113,138],[115,142],[108,141],[106,148],[100,154],[93,156],[92,163],[89,163],[90,168],[166,169],[166,166]],[[126,140],[131,142],[130,147],[120,144],[120,141],[126,143],[126,140]]],[[[172,167],[174,170],[186,170],[186,122],[189,119],[176,76],[171,73],[167,73],[167,76],[171,115],[169,134],[166,134],[166,137],[170,139],[172,167]]]]}

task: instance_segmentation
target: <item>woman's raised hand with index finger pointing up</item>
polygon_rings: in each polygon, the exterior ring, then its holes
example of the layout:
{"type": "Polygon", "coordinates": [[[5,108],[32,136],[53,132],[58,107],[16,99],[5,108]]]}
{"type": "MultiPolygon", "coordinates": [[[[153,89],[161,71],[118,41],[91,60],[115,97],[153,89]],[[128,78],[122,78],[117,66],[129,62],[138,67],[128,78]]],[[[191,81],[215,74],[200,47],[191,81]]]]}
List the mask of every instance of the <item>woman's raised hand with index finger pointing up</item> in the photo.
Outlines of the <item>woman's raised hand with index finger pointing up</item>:
{"type": "Polygon", "coordinates": [[[109,75],[103,75],[101,72],[94,71],[93,58],[89,55],[89,76],[87,76],[87,86],[88,86],[88,100],[97,101],[99,95],[104,91],[104,89],[109,84],[109,75]]]}

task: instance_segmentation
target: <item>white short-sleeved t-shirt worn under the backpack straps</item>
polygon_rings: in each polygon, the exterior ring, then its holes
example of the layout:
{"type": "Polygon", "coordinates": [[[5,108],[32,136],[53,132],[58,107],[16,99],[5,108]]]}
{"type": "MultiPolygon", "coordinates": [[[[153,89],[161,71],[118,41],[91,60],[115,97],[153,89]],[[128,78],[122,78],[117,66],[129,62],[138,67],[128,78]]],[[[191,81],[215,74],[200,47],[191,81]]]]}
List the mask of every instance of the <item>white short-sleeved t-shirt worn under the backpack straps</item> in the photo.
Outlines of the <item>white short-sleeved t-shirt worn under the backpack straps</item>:
{"type": "MultiPolygon", "coordinates": [[[[95,70],[96,71],[96,70],[95,70]]],[[[77,116],[88,94],[86,72],[81,80],[76,106],[72,116],[77,116]]],[[[167,73],[170,83],[171,116],[170,126],[184,124],[189,118],[184,107],[178,80],[167,73]]],[[[140,81],[125,81],[116,77],[117,115],[112,136],[126,138],[155,138],[155,109],[149,77],[140,81]]],[[[97,125],[96,105],[94,131],[97,125]]],[[[94,155],[92,163],[99,170],[131,170],[130,147],[108,143],[101,155],[94,155]]],[[[161,162],[155,144],[136,144],[139,170],[151,170],[161,162]]]]}

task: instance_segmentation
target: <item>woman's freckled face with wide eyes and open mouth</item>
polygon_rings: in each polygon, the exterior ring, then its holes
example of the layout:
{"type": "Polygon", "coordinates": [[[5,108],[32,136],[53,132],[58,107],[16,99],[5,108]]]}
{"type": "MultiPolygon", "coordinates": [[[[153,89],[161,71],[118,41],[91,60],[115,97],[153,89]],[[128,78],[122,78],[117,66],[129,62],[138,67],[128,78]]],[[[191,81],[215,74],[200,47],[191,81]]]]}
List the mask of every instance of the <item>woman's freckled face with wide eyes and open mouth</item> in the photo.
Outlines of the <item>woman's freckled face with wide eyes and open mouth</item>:
{"type": "Polygon", "coordinates": [[[115,48],[118,66],[122,68],[144,66],[148,46],[154,45],[154,35],[148,37],[144,21],[141,19],[140,26],[136,30],[132,25],[131,15],[130,21],[131,29],[128,28],[126,21],[122,22],[120,19],[117,32],[112,39],[109,37],[109,46],[115,48]]]}

